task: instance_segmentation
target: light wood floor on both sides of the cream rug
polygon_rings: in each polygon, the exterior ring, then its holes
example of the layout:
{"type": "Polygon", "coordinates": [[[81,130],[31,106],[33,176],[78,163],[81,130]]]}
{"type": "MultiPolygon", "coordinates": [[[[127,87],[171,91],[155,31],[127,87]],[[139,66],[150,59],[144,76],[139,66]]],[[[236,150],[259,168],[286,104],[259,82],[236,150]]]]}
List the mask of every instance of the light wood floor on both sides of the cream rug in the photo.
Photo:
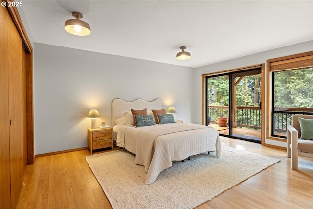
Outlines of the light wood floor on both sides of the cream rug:
{"type": "MultiPolygon", "coordinates": [[[[294,171],[291,159],[283,150],[237,139],[222,138],[222,142],[278,158],[281,162],[198,209],[313,208],[313,159],[300,157],[299,170],[294,171]]],[[[17,209],[110,209],[108,199],[85,160],[87,155],[89,151],[83,150],[37,158],[35,164],[26,167],[25,185],[17,209]]]]}

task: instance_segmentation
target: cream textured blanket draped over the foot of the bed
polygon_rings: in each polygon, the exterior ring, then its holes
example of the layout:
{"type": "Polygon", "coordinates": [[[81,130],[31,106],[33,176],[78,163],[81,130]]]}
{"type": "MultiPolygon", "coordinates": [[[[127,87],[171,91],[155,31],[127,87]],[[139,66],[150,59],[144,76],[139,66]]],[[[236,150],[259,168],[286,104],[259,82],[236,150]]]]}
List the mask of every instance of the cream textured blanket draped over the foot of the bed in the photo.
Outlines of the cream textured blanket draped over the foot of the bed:
{"type": "Polygon", "coordinates": [[[145,183],[153,183],[158,174],[189,156],[215,151],[222,157],[218,131],[192,123],[172,123],[147,126],[136,134],[136,164],[147,173],[145,183]]]}

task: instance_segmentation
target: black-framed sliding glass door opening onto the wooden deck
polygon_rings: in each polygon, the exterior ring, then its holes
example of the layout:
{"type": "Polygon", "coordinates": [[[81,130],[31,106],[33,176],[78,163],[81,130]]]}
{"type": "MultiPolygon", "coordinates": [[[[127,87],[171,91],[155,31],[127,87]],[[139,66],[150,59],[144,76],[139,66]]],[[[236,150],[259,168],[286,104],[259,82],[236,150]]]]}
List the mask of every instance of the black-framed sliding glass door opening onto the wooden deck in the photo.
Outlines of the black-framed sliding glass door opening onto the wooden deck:
{"type": "Polygon", "coordinates": [[[206,124],[261,143],[261,67],[206,77],[206,124]]]}

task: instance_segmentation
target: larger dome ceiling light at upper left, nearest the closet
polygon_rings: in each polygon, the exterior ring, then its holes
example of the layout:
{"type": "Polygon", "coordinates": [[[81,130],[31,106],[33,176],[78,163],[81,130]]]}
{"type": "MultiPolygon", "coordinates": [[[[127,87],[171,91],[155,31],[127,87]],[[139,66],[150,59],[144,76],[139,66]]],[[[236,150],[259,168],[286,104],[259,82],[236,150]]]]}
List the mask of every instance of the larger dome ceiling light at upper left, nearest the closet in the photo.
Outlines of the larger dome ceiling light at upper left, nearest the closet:
{"type": "Polygon", "coordinates": [[[64,29],[76,36],[88,36],[90,31],[90,25],[82,20],[83,14],[80,12],[72,12],[73,17],[76,19],[69,19],[64,23],[64,29]]]}

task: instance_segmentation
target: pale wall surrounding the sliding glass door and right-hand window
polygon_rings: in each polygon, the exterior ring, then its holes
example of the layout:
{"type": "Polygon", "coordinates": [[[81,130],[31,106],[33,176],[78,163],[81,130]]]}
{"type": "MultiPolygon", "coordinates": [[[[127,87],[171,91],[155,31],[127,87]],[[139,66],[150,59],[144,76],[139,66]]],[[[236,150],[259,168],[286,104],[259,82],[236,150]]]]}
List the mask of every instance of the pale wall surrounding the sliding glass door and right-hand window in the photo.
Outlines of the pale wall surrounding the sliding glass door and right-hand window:
{"type": "MultiPolygon", "coordinates": [[[[227,60],[224,62],[214,63],[207,66],[202,66],[194,70],[194,93],[192,103],[192,121],[195,123],[202,123],[202,76],[201,74],[207,74],[211,72],[218,72],[222,70],[235,69],[250,65],[256,65],[265,63],[268,59],[273,59],[282,56],[288,56],[292,54],[298,54],[302,52],[312,51],[313,41],[303,42],[291,46],[285,46],[276,48],[256,54],[251,54],[236,59],[227,60]]],[[[266,143],[277,146],[286,146],[285,142],[278,142],[273,140],[266,140],[266,143]]]]}

